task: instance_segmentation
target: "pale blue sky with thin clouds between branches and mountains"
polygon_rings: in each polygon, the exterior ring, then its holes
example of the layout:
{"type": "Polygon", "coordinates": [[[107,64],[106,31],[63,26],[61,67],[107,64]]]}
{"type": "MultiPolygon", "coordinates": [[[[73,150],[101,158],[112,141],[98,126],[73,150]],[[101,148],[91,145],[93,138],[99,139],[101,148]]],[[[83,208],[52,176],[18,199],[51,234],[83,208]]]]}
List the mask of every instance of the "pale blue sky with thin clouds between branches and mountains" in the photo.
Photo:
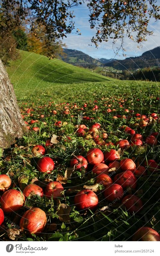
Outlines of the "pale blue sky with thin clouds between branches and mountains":
{"type": "MultiPolygon", "coordinates": [[[[68,46],[68,49],[76,49],[82,51],[93,58],[116,58],[116,59],[124,59],[122,50],[119,51],[118,55],[115,56],[115,53],[112,48],[113,40],[110,39],[108,42],[99,43],[98,49],[95,48],[94,45],[89,46],[91,44],[91,38],[96,33],[95,29],[90,29],[89,24],[89,10],[86,6],[86,2],[82,3],[78,7],[72,8],[74,10],[74,18],[76,29],[79,28],[82,35],[77,35],[75,31],[67,36],[63,40],[63,42],[68,46]]],[[[134,43],[128,37],[124,40],[124,48],[126,57],[135,57],[140,56],[143,52],[151,50],[157,46],[160,46],[160,21],[150,20],[149,22],[149,30],[153,30],[154,34],[152,36],[147,36],[147,41],[141,43],[142,48],[137,48],[139,46],[138,43],[134,43]]],[[[120,41],[117,41],[114,47],[119,46],[120,41]]]]}

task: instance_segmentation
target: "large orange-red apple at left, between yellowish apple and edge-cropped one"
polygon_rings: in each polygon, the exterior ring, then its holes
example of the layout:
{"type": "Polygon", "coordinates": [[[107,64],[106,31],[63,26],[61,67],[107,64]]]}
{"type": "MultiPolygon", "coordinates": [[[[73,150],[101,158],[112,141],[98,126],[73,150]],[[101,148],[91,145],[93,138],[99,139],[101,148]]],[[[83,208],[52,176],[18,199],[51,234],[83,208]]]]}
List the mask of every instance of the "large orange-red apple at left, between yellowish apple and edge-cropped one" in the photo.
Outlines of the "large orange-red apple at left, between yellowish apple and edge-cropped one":
{"type": "Polygon", "coordinates": [[[11,213],[18,211],[25,202],[25,196],[22,192],[16,189],[9,189],[2,194],[1,208],[4,213],[11,213]]]}

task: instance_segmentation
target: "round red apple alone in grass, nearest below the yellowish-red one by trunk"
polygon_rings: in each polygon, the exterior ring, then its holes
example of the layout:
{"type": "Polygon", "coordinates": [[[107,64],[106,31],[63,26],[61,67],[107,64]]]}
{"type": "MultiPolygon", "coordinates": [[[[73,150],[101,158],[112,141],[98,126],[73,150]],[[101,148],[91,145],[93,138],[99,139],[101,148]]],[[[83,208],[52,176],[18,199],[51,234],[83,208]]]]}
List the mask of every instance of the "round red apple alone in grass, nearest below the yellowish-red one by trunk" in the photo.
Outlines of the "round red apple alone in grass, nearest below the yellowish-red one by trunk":
{"type": "Polygon", "coordinates": [[[49,156],[44,156],[38,160],[37,169],[39,172],[50,174],[54,169],[54,162],[49,156]]]}

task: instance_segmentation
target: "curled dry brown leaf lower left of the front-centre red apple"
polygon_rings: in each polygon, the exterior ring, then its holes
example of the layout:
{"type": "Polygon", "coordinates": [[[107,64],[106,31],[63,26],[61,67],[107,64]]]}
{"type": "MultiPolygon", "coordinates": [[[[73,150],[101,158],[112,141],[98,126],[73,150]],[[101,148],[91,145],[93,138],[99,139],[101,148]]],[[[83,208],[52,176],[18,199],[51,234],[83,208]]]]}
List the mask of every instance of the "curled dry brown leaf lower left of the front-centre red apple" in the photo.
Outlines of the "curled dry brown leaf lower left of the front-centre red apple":
{"type": "Polygon", "coordinates": [[[57,207],[57,215],[60,221],[62,222],[70,222],[71,218],[69,213],[71,211],[71,207],[66,204],[59,204],[57,207]]]}

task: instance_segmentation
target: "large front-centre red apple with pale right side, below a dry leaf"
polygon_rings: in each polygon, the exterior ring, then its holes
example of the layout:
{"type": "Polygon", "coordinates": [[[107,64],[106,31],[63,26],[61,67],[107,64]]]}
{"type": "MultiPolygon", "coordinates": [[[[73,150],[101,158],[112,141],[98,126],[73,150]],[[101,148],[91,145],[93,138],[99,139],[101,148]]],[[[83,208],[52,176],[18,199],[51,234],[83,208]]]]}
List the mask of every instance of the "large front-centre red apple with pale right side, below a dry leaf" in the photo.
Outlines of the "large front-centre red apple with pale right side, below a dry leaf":
{"type": "Polygon", "coordinates": [[[79,210],[93,210],[98,205],[98,197],[92,190],[83,189],[75,195],[74,204],[79,210]]]}

